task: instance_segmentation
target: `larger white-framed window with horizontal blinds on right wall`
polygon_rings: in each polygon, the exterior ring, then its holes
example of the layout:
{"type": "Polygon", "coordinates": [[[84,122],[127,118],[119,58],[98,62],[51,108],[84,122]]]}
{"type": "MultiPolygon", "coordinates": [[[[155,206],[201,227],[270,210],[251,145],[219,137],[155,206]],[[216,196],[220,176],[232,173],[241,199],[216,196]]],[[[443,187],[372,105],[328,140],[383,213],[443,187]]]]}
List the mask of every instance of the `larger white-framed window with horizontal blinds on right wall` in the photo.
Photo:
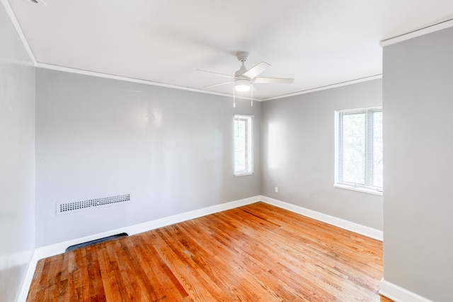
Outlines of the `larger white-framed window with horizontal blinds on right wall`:
{"type": "Polygon", "coordinates": [[[382,108],[338,110],[335,186],[382,194],[382,108]]]}

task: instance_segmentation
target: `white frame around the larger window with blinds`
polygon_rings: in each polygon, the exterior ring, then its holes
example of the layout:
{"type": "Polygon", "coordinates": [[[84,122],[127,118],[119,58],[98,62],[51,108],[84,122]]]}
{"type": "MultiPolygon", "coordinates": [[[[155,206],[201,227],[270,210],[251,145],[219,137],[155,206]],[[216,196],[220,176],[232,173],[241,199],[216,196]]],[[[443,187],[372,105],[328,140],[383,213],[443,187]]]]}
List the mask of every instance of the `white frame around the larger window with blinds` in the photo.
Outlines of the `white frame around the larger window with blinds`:
{"type": "MultiPolygon", "coordinates": [[[[355,108],[355,109],[346,109],[346,110],[336,110],[335,111],[335,182],[333,184],[334,187],[338,187],[341,189],[348,189],[348,190],[354,190],[354,191],[359,191],[359,192],[366,192],[370,194],[377,194],[382,196],[383,194],[383,188],[382,187],[374,187],[372,185],[362,185],[362,184],[355,184],[351,182],[345,182],[342,179],[342,175],[340,175],[340,165],[342,164],[342,158],[340,158],[340,151],[341,146],[340,146],[340,136],[343,135],[340,132],[342,131],[342,127],[340,127],[340,115],[343,113],[360,113],[364,112],[365,113],[365,132],[370,133],[373,131],[373,124],[372,122],[369,122],[372,119],[369,119],[369,115],[372,114],[372,112],[382,112],[382,106],[375,106],[375,107],[369,107],[369,108],[355,108]]],[[[365,134],[367,135],[367,134],[365,134]]],[[[365,152],[371,152],[372,148],[374,146],[365,146],[365,152]]],[[[369,172],[369,170],[372,170],[374,168],[374,165],[366,160],[367,156],[365,155],[365,173],[369,172]]],[[[365,180],[366,181],[366,180],[365,180]]]]}

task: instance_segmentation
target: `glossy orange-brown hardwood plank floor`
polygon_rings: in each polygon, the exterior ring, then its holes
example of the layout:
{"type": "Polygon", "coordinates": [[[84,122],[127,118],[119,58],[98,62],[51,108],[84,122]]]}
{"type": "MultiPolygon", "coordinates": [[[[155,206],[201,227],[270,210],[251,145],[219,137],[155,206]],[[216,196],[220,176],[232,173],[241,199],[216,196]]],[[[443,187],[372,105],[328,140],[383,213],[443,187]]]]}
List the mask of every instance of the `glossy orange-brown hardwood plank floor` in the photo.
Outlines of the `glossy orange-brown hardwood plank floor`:
{"type": "Polygon", "coordinates": [[[38,262],[27,301],[385,301],[382,243],[263,202],[38,262]]]}

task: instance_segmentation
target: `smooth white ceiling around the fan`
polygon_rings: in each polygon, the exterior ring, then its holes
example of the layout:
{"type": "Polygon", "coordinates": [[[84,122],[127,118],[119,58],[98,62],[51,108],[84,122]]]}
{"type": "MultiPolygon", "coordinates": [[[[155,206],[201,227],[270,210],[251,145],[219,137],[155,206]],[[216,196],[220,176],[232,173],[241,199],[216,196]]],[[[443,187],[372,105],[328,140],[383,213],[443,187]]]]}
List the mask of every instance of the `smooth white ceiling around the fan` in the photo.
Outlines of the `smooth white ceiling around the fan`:
{"type": "MultiPolygon", "coordinates": [[[[260,99],[382,74],[382,40],[453,18],[452,0],[9,0],[40,64],[203,89],[246,66],[292,84],[260,99]]],[[[232,85],[210,91],[232,93],[232,85]]]]}

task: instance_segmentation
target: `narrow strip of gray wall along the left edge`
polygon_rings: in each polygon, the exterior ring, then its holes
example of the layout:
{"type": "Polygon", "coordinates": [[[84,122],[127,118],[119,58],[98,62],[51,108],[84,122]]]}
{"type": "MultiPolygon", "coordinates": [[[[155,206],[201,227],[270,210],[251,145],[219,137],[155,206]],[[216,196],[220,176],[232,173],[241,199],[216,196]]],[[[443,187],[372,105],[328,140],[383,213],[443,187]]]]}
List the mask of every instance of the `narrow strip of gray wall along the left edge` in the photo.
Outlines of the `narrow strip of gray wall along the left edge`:
{"type": "Polygon", "coordinates": [[[35,68],[0,4],[0,301],[16,301],[35,245],[35,68]]]}

